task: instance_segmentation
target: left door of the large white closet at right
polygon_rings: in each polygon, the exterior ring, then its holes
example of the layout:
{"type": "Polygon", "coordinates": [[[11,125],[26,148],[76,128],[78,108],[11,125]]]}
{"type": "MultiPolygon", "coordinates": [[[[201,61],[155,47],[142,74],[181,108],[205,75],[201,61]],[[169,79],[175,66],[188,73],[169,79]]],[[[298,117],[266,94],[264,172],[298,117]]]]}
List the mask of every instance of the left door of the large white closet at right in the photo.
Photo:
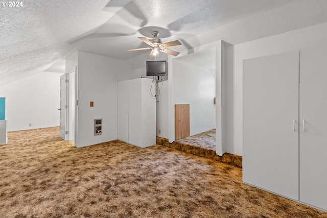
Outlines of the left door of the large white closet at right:
{"type": "Polygon", "coordinates": [[[298,52],[244,60],[245,183],[298,200],[297,119],[298,52]]]}

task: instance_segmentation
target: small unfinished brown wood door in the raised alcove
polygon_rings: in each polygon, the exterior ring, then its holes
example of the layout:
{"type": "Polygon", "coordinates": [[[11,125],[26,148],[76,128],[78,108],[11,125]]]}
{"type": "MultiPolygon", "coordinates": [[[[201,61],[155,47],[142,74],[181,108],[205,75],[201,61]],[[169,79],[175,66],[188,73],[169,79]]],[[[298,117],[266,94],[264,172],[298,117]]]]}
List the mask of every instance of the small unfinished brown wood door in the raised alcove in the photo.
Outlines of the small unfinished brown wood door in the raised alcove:
{"type": "Polygon", "coordinates": [[[175,140],[190,136],[190,105],[175,105],[175,140]]]}

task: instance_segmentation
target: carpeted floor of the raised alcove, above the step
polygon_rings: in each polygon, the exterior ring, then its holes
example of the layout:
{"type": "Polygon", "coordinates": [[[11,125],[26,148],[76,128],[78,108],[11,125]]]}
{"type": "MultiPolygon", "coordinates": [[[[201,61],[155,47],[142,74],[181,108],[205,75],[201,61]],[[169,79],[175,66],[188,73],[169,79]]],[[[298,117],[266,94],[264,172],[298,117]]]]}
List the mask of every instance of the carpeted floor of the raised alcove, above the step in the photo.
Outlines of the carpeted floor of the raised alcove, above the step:
{"type": "Polygon", "coordinates": [[[176,140],[183,144],[216,151],[216,129],[176,140]]]}

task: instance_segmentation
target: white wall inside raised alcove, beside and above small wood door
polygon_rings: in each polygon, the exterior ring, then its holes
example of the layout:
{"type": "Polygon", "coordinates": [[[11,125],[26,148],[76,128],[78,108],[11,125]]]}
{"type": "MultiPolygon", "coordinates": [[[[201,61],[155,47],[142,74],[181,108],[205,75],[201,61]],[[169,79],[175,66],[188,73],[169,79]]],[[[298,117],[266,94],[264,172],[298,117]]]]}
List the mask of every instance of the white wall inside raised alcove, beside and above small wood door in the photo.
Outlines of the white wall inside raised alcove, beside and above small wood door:
{"type": "Polygon", "coordinates": [[[190,104],[190,135],[215,129],[216,71],[173,61],[173,104],[190,104]]]}

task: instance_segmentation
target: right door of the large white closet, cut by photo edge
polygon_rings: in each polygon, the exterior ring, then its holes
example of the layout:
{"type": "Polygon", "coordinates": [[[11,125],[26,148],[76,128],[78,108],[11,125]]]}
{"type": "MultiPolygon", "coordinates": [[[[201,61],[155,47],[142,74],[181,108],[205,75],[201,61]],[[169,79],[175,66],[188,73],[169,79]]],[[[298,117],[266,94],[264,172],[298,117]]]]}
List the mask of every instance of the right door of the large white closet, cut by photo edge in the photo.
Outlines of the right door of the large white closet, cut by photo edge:
{"type": "Polygon", "coordinates": [[[327,47],[300,51],[299,95],[300,201],[327,210],[327,47]]]}

